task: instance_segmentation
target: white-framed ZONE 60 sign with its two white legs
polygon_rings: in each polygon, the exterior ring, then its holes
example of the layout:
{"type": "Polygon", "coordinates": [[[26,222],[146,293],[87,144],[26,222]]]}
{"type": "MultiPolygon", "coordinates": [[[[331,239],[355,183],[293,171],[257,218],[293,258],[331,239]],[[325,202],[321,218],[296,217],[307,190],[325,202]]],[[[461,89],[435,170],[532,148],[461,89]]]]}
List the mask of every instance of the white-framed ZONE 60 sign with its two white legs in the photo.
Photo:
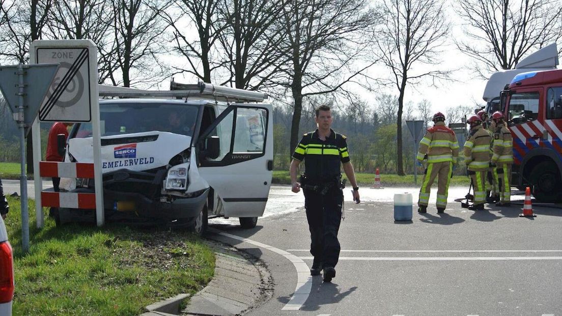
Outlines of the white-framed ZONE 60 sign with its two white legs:
{"type": "MultiPolygon", "coordinates": [[[[89,39],[76,40],[34,40],[29,49],[32,64],[58,62],[53,83],[43,100],[37,119],[33,122],[33,167],[40,170],[41,137],[40,122],[72,122],[92,124],[94,183],[96,192],[96,222],[105,222],[103,209],[103,187],[101,169],[101,127],[99,122],[99,93],[97,47],[89,39]]],[[[39,174],[39,171],[36,171],[39,174]]],[[[44,225],[41,200],[43,183],[41,177],[35,180],[35,213],[37,227],[44,225]]]]}

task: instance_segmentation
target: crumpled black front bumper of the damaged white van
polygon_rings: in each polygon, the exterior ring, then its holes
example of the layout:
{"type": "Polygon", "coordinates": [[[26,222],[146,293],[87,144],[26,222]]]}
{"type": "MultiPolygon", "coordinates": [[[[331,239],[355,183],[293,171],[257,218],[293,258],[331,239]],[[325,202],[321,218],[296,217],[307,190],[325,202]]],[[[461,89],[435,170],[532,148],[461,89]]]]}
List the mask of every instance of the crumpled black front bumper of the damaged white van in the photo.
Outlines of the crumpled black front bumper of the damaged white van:
{"type": "MultiPolygon", "coordinates": [[[[115,192],[103,190],[103,205],[107,210],[116,213],[133,213],[134,216],[145,218],[158,218],[166,220],[189,219],[199,215],[209,195],[209,188],[197,197],[175,197],[170,202],[150,200],[139,193],[115,192]],[[116,202],[126,201],[134,203],[134,211],[120,211],[115,209],[116,202]]],[[[132,214],[132,215],[133,215],[132,214]]]]}

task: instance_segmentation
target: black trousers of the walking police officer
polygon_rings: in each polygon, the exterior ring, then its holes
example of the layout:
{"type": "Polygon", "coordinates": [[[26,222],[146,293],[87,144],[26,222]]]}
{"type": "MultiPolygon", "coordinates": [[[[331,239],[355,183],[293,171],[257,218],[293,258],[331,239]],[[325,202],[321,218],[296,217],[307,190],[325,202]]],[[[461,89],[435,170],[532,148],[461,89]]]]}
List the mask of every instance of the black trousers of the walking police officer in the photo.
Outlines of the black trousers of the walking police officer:
{"type": "Polygon", "coordinates": [[[305,194],[306,219],[310,229],[310,253],[314,264],[321,267],[336,267],[339,258],[338,230],[342,219],[343,191],[332,187],[321,195],[311,189],[303,189],[305,194]]]}

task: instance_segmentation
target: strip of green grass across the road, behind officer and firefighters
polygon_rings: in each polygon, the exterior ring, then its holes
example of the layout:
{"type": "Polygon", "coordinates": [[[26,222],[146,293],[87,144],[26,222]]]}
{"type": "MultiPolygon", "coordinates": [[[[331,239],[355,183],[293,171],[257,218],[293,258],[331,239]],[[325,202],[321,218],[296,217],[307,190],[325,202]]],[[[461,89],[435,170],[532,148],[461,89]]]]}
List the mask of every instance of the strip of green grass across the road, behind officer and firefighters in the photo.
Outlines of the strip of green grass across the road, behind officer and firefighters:
{"type": "MultiPolygon", "coordinates": [[[[374,173],[356,173],[355,177],[359,186],[372,186],[375,183],[374,173]]],[[[344,178],[345,177],[344,175],[344,178]]],[[[423,174],[418,174],[418,186],[422,185],[423,174]]],[[[277,184],[291,184],[291,177],[289,177],[289,171],[275,170],[273,171],[272,183],[277,184]]],[[[414,186],[414,175],[396,175],[396,174],[381,174],[380,183],[382,186],[414,186]]],[[[349,182],[348,182],[349,184],[349,182]]],[[[433,184],[437,184],[437,181],[433,184]]],[[[451,186],[469,186],[470,179],[464,175],[454,175],[451,179],[451,186]]]]}

